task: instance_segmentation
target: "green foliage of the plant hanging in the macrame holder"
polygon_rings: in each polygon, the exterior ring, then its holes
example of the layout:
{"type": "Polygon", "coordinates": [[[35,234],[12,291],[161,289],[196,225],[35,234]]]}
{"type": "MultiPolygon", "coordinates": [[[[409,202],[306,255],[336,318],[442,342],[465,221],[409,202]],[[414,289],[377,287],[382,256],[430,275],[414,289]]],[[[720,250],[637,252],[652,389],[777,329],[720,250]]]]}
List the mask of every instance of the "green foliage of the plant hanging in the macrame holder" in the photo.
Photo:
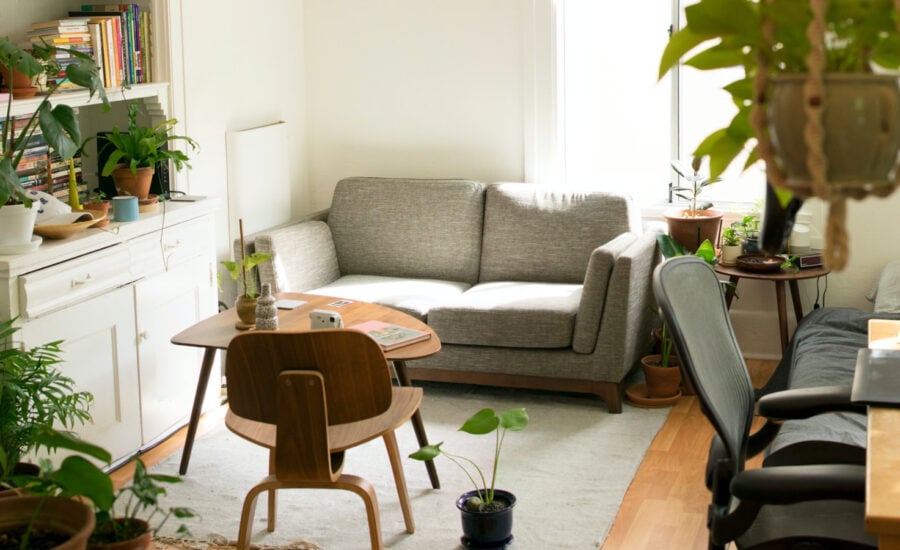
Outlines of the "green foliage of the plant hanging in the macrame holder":
{"type": "MultiPolygon", "coordinates": [[[[684,10],[686,24],[672,37],[659,65],[662,78],[683,58],[700,70],[743,69],[725,86],[738,112],[694,151],[710,157],[716,178],[755,137],[750,124],[753,78],[760,61],[770,74],[802,73],[810,51],[805,31],[812,19],[806,1],[700,0],[684,10]],[[775,23],[771,36],[763,21],[775,23]],[[699,50],[698,50],[699,48],[699,50]]],[[[831,0],[826,13],[825,72],[873,72],[873,65],[900,68],[900,32],[892,0],[831,0]]],[[[758,160],[755,147],[744,166],[758,160]]]]}

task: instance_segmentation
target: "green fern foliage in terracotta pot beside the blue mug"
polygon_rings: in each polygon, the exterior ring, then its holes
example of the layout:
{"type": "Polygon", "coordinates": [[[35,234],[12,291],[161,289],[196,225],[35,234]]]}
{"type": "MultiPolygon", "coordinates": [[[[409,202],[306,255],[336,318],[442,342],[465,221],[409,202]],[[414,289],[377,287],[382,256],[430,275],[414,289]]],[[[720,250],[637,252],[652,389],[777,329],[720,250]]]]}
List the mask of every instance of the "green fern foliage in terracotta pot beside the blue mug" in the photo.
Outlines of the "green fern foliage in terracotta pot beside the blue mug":
{"type": "Polygon", "coordinates": [[[160,161],[171,160],[176,170],[181,170],[190,165],[190,158],[183,151],[169,148],[168,145],[175,141],[184,141],[192,150],[197,150],[197,142],[188,136],[170,135],[169,131],[178,124],[173,119],[160,122],[156,126],[142,126],[138,124],[138,112],[140,105],[132,101],[128,105],[128,132],[122,132],[118,127],[113,127],[112,132],[106,135],[107,143],[104,150],[109,149],[109,157],[103,165],[102,174],[108,176],[119,164],[124,164],[137,173],[138,168],[155,167],[160,161]]]}

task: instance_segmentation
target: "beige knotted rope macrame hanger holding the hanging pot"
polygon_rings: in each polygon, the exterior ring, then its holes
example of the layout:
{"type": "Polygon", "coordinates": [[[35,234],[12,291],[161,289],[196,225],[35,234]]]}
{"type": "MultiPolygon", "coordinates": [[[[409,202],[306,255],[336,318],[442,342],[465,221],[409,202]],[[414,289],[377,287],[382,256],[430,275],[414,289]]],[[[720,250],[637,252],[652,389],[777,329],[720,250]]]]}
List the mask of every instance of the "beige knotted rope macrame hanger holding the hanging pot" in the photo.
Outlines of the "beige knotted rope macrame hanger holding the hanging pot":
{"type": "MultiPolygon", "coordinates": [[[[878,197],[889,195],[900,184],[900,169],[895,170],[893,181],[828,181],[828,158],[823,151],[825,128],[822,124],[822,111],[825,104],[823,83],[825,13],[828,2],[827,0],[809,0],[809,3],[813,17],[806,29],[810,49],[806,59],[807,79],[803,86],[803,108],[806,113],[803,136],[807,148],[806,165],[810,174],[809,181],[788,180],[776,160],[768,130],[769,59],[764,52],[760,52],[757,59],[757,71],[753,82],[754,104],[750,123],[756,133],[759,158],[766,163],[766,176],[769,184],[777,188],[788,189],[801,198],[818,197],[828,203],[825,261],[828,267],[839,271],[846,266],[849,253],[846,229],[847,198],[862,199],[868,195],[878,197]]],[[[894,8],[900,10],[900,0],[894,0],[894,8]]],[[[769,44],[773,42],[775,23],[771,19],[764,20],[763,35],[769,44]]]]}

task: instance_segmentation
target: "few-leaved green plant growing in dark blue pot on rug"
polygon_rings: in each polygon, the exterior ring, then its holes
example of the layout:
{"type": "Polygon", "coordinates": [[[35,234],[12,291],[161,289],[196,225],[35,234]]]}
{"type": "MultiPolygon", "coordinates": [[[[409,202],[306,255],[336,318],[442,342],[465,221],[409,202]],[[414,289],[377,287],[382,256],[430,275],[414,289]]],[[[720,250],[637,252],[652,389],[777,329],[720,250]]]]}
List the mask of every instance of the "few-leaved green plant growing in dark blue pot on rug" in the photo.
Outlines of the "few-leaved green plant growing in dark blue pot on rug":
{"type": "Polygon", "coordinates": [[[466,477],[475,486],[478,493],[477,497],[472,497],[466,502],[466,508],[471,511],[486,511],[497,507],[494,501],[494,485],[497,481],[497,469],[500,466],[500,449],[503,446],[503,440],[506,438],[507,431],[518,432],[524,430],[528,426],[528,413],[524,408],[509,409],[499,415],[493,409],[482,409],[466,420],[459,431],[472,435],[495,434],[494,440],[494,462],[491,468],[491,482],[487,483],[484,472],[478,467],[472,459],[464,456],[455,455],[444,451],[441,446],[443,442],[437,445],[425,445],[415,453],[409,455],[415,460],[433,460],[438,455],[444,455],[451,462],[465,472],[466,477]],[[471,469],[466,466],[471,466],[471,469]],[[475,476],[478,479],[476,480],[475,476]]]}

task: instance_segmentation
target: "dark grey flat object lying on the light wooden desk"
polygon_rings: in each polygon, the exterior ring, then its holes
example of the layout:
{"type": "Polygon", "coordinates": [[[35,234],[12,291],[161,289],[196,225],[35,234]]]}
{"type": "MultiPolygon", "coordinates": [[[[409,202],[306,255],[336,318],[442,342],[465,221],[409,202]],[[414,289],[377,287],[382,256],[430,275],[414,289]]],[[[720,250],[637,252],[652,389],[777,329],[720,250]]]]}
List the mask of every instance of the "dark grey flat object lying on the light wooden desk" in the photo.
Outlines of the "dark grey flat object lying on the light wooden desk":
{"type": "Polygon", "coordinates": [[[900,406],[900,350],[860,349],[850,400],[866,405],[900,406]]]}

